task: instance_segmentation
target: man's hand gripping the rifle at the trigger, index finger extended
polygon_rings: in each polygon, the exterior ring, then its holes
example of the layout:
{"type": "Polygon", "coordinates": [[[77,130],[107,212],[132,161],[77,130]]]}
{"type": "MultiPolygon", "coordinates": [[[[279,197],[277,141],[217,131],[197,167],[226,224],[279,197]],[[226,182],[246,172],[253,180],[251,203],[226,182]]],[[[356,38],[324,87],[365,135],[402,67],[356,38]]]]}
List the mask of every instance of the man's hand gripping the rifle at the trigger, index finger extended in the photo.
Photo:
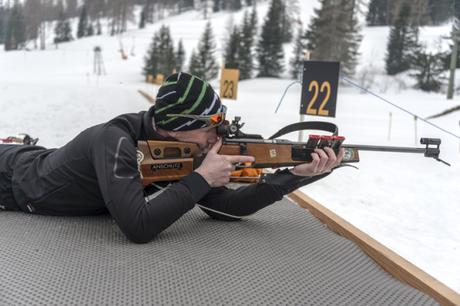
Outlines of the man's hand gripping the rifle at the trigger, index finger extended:
{"type": "Polygon", "coordinates": [[[220,187],[230,181],[230,175],[238,163],[254,162],[254,157],[244,155],[219,155],[222,139],[219,139],[206,154],[198,172],[211,187],[220,187]]]}

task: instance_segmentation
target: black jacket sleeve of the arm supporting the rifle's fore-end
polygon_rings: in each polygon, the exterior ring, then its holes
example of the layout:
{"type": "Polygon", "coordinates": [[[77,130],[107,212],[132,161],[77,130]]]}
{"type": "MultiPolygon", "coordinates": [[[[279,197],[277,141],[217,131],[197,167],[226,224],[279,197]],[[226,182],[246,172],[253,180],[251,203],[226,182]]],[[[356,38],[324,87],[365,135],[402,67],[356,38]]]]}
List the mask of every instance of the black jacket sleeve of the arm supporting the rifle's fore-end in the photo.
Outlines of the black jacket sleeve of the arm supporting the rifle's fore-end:
{"type": "Polygon", "coordinates": [[[215,219],[239,220],[240,218],[225,216],[216,211],[239,217],[247,216],[281,200],[284,195],[297,188],[322,179],[329,174],[303,177],[293,175],[287,169],[280,170],[274,174],[262,176],[259,183],[243,186],[235,190],[226,187],[213,188],[201,199],[199,204],[204,206],[202,207],[204,212],[215,219]]]}

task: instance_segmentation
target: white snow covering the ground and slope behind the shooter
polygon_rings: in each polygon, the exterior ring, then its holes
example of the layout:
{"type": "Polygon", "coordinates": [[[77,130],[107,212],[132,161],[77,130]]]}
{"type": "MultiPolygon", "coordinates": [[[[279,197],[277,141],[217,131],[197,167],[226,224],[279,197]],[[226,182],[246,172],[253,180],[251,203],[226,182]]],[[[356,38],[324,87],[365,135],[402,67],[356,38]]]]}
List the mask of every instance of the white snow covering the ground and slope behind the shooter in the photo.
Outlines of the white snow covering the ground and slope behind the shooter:
{"type": "MultiPolygon", "coordinates": [[[[316,1],[301,1],[302,21],[308,22],[316,1]]],[[[259,21],[267,10],[259,6],[259,21]]],[[[232,14],[212,17],[218,48],[232,14]]],[[[239,22],[242,13],[234,14],[239,22]]],[[[144,30],[133,28],[122,37],[91,37],[50,46],[46,51],[0,51],[0,136],[28,132],[40,137],[40,144],[58,147],[80,131],[125,112],[149,107],[138,93],[155,95],[157,86],[143,82],[143,57],[153,33],[161,24],[170,25],[177,43],[184,40],[187,55],[195,48],[206,21],[197,12],[173,16],[144,30]],[[120,40],[132,51],[124,61],[118,52],[120,40]],[[107,75],[93,72],[93,48],[102,46],[107,75]]],[[[422,39],[430,45],[447,35],[448,26],[427,27],[422,39]]],[[[364,28],[362,61],[356,75],[379,95],[421,117],[460,104],[458,96],[447,101],[444,94],[426,94],[410,89],[407,77],[390,78],[383,73],[388,28],[364,28]]],[[[290,57],[290,46],[286,46],[290,57]]],[[[458,75],[458,73],[457,73],[458,75]]],[[[457,84],[460,79],[457,80],[457,84]]],[[[294,85],[277,114],[274,113],[289,79],[254,79],[241,82],[238,101],[225,100],[229,115],[246,122],[245,131],[266,137],[282,126],[299,120],[300,85],[294,85]]],[[[218,82],[213,81],[218,90],[218,82]]],[[[330,119],[346,136],[348,144],[414,146],[411,116],[342,86],[337,118],[330,119]],[[388,138],[389,112],[393,114],[388,138]]],[[[460,135],[460,113],[431,122],[460,135]]],[[[308,118],[308,120],[322,120],[308,118]]],[[[460,292],[460,141],[418,122],[418,137],[442,139],[441,157],[452,164],[414,154],[361,152],[359,170],[339,169],[326,179],[302,191],[339,214],[359,229],[394,250],[435,278],[460,292]]],[[[297,135],[289,135],[297,140],[297,135]]]]}

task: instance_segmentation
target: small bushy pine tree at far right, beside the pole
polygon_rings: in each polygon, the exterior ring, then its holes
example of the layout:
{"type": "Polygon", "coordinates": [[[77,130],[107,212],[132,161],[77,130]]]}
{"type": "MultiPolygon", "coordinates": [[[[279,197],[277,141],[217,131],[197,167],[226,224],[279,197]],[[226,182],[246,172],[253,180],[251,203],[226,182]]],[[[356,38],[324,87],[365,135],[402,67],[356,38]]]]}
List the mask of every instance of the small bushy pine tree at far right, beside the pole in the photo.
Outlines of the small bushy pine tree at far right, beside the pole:
{"type": "Polygon", "coordinates": [[[423,91],[438,92],[441,89],[441,79],[444,74],[443,54],[430,54],[417,50],[411,56],[411,67],[415,70],[411,76],[417,80],[416,88],[423,91]]]}

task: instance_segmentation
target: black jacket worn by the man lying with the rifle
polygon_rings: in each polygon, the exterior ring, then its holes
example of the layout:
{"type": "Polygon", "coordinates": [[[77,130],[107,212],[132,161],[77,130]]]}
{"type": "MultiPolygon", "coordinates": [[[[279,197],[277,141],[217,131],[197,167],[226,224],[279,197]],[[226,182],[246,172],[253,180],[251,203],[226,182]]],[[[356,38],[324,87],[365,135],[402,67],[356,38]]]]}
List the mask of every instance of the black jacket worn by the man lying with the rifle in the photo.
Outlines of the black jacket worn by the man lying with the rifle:
{"type": "Polygon", "coordinates": [[[230,190],[211,188],[192,172],[149,200],[136,159],[137,141],[147,139],[164,137],[155,132],[148,113],[140,112],[91,127],[59,149],[18,146],[0,158],[11,163],[12,191],[22,211],[90,215],[108,210],[123,233],[139,243],[152,240],[196,203],[248,215],[280,200],[301,181],[290,174],[277,175],[272,182],[230,190]]]}

